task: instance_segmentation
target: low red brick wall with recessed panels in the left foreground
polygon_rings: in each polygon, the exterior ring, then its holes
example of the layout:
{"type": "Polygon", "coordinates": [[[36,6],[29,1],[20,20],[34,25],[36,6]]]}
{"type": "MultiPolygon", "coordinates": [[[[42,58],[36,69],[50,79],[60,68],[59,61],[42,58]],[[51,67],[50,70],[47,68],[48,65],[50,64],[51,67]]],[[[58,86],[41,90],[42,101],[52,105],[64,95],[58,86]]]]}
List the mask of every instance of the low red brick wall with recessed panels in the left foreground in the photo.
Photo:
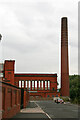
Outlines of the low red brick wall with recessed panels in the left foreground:
{"type": "Polygon", "coordinates": [[[2,118],[11,118],[20,111],[21,90],[11,84],[2,83],[2,118]]]}

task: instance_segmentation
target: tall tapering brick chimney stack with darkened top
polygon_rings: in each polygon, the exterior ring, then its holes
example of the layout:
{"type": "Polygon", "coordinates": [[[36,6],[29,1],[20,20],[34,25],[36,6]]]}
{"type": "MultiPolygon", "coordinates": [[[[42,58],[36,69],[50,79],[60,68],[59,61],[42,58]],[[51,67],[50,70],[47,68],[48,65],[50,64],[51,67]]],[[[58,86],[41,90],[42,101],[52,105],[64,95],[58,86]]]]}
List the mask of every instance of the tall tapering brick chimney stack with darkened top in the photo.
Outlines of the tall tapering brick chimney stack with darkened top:
{"type": "Polygon", "coordinates": [[[61,19],[61,95],[69,96],[68,26],[67,17],[61,19]]]}

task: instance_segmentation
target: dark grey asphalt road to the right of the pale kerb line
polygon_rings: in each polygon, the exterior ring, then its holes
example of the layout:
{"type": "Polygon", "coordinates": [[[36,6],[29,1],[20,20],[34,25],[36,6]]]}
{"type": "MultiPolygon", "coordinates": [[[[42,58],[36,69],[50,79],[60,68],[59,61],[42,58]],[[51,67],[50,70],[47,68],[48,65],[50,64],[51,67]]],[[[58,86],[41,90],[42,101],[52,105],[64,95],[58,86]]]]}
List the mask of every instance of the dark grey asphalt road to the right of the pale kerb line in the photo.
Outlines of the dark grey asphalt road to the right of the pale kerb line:
{"type": "Polygon", "coordinates": [[[53,101],[36,101],[50,118],[78,118],[78,106],[72,104],[56,104],[53,101]]]}

